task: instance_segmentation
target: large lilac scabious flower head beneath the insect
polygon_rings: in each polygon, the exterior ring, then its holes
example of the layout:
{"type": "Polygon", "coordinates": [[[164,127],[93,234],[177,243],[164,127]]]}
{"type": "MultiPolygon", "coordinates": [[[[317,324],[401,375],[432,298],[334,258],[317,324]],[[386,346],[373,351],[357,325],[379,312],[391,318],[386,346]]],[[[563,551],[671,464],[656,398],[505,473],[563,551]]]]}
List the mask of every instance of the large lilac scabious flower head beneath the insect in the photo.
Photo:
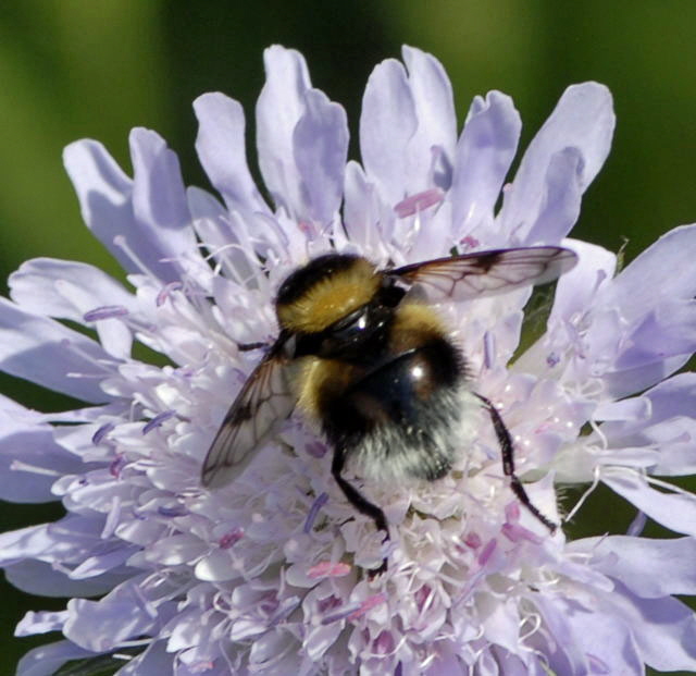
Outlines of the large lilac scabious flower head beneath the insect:
{"type": "Polygon", "coordinates": [[[696,592],[696,497],[657,479],[696,469],[696,376],[674,374],[696,347],[696,226],[617,271],[612,253],[567,238],[609,150],[605,87],[567,89],[510,179],[510,98],[474,99],[459,134],[442,65],[411,48],[403,61],[370,76],[359,163],[347,161],[344,109],[312,88],[302,57],[266,51],[256,114],[268,200],[241,108],[222,94],[195,102],[219,197],[185,187],[154,132],[130,135],[133,179],[96,142],[66,149],[85,221],[129,286],[42,258],[0,302],[0,368],[88,404],[44,415],[2,401],[0,495],[60,499],[66,515],[1,536],[0,562],[22,589],[73,597],[21,622],[20,635],[64,640],[18,674],[104,654],[122,676],[696,667],[694,614],[674,598],[696,592]],[[550,534],[510,491],[483,411],[444,479],[364,486],[391,527],[375,579],[382,534],[298,416],[233,484],[201,488],[204,454],[260,358],[239,346],[273,340],[274,294],[297,266],[332,249],[399,266],[538,244],[580,262],[513,361],[530,290],[442,314],[514,438],[535,505],[560,521],[559,486],[602,482],[637,509],[627,534],[550,534]],[[134,342],[166,365],[134,358],[134,342]],[[675,537],[641,537],[646,518],[675,537]]]}

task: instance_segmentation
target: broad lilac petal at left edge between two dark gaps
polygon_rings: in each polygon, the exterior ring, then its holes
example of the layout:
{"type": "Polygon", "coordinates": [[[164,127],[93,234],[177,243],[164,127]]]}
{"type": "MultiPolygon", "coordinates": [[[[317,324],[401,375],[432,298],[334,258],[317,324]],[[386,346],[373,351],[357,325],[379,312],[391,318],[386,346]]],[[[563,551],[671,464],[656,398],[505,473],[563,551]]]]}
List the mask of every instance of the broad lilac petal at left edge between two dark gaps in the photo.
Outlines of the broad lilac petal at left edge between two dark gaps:
{"type": "Polygon", "coordinates": [[[0,396],[0,499],[20,503],[57,500],[51,487],[84,464],[53,440],[53,428],[0,396]]]}

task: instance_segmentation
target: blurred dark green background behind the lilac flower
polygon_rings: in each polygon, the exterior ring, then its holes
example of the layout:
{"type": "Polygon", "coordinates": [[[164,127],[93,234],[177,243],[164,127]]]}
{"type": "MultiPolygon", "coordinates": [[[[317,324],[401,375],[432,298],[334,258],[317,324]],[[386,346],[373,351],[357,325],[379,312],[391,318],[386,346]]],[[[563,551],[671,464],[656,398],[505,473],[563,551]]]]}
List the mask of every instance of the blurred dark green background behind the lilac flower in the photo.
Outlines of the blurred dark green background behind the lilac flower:
{"type": "MultiPolygon", "coordinates": [[[[696,221],[696,2],[258,2],[22,0],[0,9],[0,279],[36,256],[77,259],[120,275],[83,226],[62,148],[103,142],[129,171],[133,126],[159,131],[179,153],[187,183],[207,185],[194,152],[190,103],[222,90],[241,101],[253,147],[262,50],[281,42],[308,60],[313,84],[347,108],[358,128],[373,65],[400,45],[438,57],[460,119],[471,98],[510,94],[523,142],[562,90],[596,79],[613,91],[613,151],[588,190],[574,235],[631,259],[667,230],[696,221]]],[[[356,145],[353,144],[353,157],[356,145]]],[[[251,156],[252,157],[252,156],[251,156]]],[[[2,391],[36,408],[64,402],[3,378],[2,391]]],[[[594,533],[631,516],[593,496],[594,533]],[[601,517],[599,515],[602,515],[601,517]],[[607,516],[609,514],[609,516],[607,516]],[[600,520],[601,519],[601,520],[600,520]]],[[[54,518],[49,506],[2,505],[0,529],[54,518]]],[[[587,519],[585,519],[587,520],[587,519]]],[[[656,531],[650,531],[656,532],[656,531]]],[[[41,639],[13,639],[27,610],[61,609],[2,586],[0,674],[41,639]]],[[[55,637],[50,637],[54,640],[55,637]]]]}

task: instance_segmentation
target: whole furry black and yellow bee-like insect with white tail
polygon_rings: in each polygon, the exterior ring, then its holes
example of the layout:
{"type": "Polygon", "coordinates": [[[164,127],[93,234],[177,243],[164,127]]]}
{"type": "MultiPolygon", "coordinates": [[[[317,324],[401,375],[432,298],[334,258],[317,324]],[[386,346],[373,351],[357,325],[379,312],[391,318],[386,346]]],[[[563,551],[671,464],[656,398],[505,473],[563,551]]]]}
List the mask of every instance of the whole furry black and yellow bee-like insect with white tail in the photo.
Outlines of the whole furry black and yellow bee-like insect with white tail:
{"type": "MultiPolygon", "coordinates": [[[[202,467],[207,487],[239,476],[276,422],[297,406],[333,447],[332,475],[350,504],[389,539],[383,511],[344,476],[434,481],[457,457],[467,415],[462,393],[489,414],[504,472],[526,508],[551,532],[514,470],[500,414],[472,392],[467,359],[433,304],[460,302],[550,282],[576,262],[556,246],[511,248],[377,269],[365,258],[326,254],[295,270],[275,300],[279,334],[252,371],[217,431],[202,467]]],[[[257,348],[261,344],[251,344],[257,348]]],[[[387,562],[373,574],[386,570],[387,562]]]]}

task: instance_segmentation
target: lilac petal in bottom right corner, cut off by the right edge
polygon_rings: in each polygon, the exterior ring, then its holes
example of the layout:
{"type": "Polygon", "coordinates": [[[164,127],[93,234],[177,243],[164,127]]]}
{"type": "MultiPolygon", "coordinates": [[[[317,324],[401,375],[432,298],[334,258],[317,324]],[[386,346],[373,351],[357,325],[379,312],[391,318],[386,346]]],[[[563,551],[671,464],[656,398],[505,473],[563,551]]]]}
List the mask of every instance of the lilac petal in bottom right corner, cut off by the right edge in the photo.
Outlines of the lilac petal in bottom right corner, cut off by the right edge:
{"type": "Polygon", "coordinates": [[[610,603],[623,616],[642,660],[659,672],[692,671],[696,662],[696,615],[672,598],[642,599],[621,583],[610,603]]]}

